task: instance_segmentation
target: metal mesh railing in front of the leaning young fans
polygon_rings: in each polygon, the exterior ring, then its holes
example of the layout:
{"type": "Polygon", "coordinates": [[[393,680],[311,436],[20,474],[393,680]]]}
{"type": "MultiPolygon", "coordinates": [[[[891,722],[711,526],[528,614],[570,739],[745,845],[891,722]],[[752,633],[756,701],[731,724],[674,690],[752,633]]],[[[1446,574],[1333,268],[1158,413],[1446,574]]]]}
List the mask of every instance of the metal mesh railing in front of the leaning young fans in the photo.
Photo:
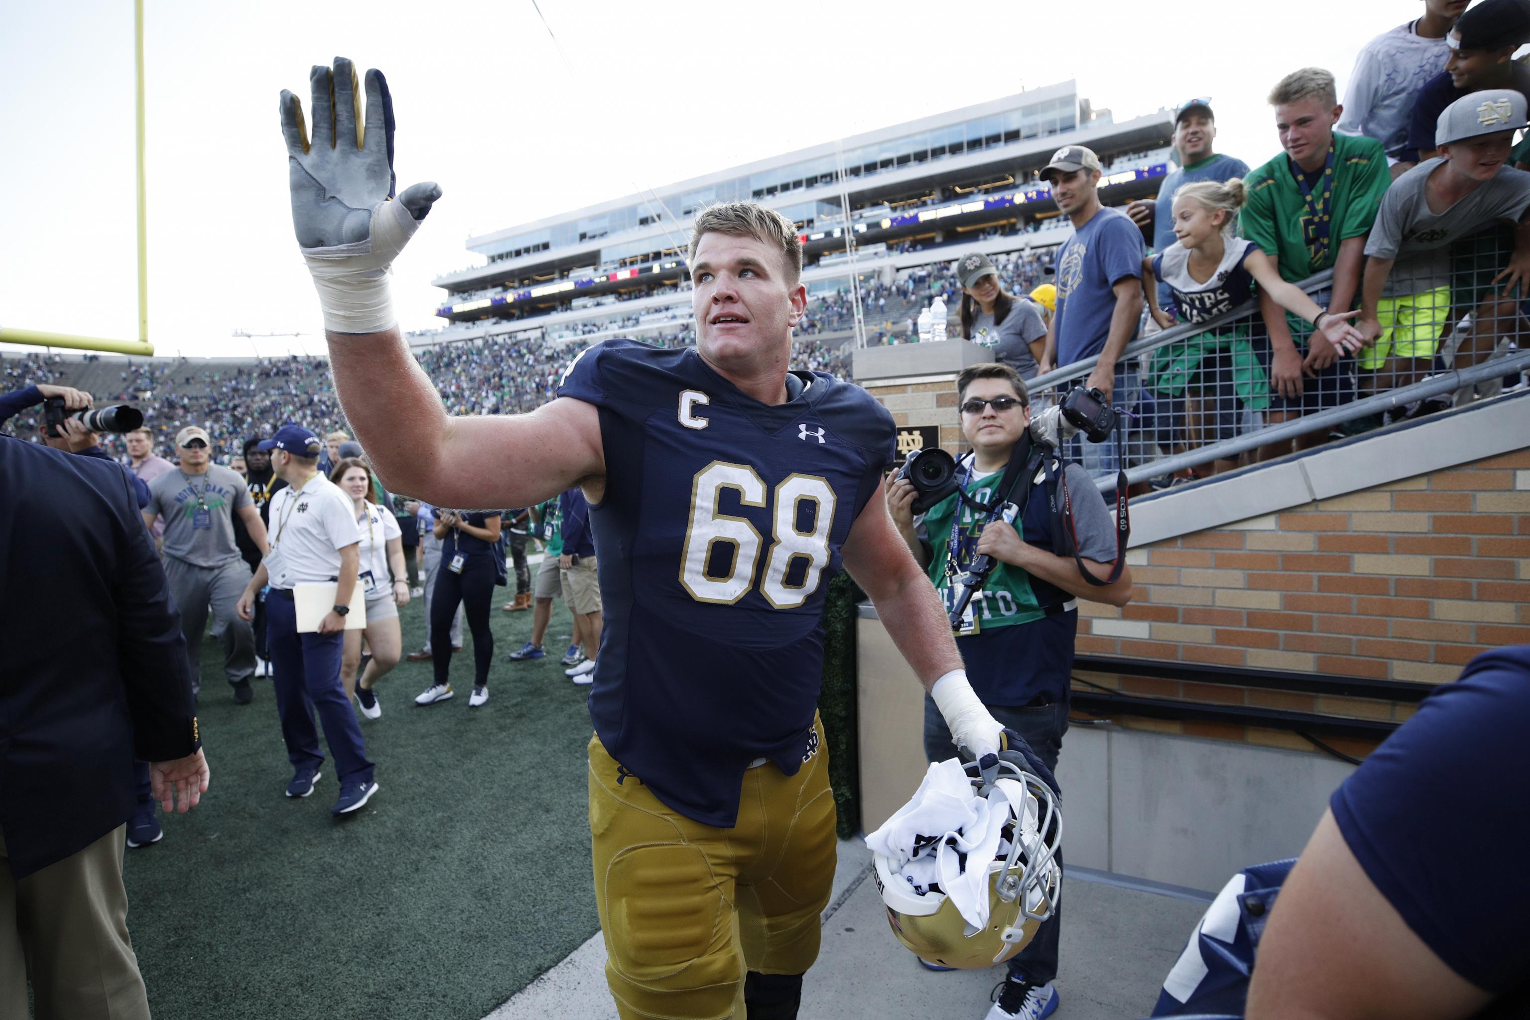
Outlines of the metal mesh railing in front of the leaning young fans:
{"type": "MultiPolygon", "coordinates": [[[[1313,433],[1357,434],[1495,395],[1506,378],[1530,373],[1530,350],[1522,349],[1530,304],[1504,297],[1495,283],[1512,249],[1513,234],[1492,226],[1434,252],[1401,255],[1377,309],[1380,338],[1328,372],[1304,375],[1299,401],[1273,388],[1271,344],[1256,300],[1141,335],[1115,369],[1128,482],[1189,480],[1207,465],[1230,469],[1278,456],[1313,433]]],[[[1331,281],[1323,271],[1297,286],[1327,306],[1331,281]]],[[[1305,353],[1310,327],[1291,315],[1287,323],[1305,353]]],[[[1097,362],[1085,358],[1031,379],[1037,408],[1082,384],[1097,362]]],[[[1114,489],[1115,440],[1074,443],[1069,456],[1102,489],[1114,489]]]]}

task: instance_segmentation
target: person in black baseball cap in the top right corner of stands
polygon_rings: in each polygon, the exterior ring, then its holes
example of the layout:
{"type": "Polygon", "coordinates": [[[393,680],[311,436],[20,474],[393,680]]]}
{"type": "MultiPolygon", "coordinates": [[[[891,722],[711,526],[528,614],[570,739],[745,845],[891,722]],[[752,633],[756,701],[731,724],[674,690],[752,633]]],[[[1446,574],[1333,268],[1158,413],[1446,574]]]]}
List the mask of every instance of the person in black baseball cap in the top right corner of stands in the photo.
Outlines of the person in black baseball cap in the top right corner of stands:
{"type": "MultiPolygon", "coordinates": [[[[1444,70],[1418,89],[1408,145],[1418,158],[1435,154],[1435,127],[1447,106],[1473,92],[1512,89],[1530,96],[1530,67],[1515,50],[1530,43],[1530,0],[1483,0],[1457,18],[1446,35],[1450,58],[1444,70]]],[[[1512,153],[1512,164],[1530,161],[1530,139],[1512,153]]]]}

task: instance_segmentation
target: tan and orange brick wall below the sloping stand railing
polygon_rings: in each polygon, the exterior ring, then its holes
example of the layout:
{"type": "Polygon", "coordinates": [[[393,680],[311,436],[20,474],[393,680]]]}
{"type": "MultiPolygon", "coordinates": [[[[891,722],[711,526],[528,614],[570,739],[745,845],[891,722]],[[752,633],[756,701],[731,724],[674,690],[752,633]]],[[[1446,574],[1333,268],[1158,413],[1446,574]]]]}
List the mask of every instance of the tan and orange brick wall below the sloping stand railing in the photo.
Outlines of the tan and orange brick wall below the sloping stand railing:
{"type": "MultiPolygon", "coordinates": [[[[1132,549],[1125,609],[1080,603],[1079,651],[1409,681],[1530,642],[1530,450],[1132,549]]],[[[1125,693],[1365,719],[1401,703],[1115,674],[1125,693]]],[[[1079,690],[1085,690],[1080,687],[1079,690]]],[[[1273,729],[1125,725],[1310,749],[1273,729]]],[[[1351,754],[1363,742],[1330,740],[1351,754]]]]}

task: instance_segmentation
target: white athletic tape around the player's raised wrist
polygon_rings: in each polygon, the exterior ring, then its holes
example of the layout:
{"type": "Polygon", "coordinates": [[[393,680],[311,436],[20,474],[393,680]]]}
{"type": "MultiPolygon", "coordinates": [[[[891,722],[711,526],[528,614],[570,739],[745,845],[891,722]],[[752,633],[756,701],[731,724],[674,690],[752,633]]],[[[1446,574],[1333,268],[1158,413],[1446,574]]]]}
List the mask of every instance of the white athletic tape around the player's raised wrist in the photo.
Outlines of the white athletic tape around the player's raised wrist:
{"type": "Polygon", "coordinates": [[[303,260],[314,275],[324,329],[337,333],[379,333],[398,324],[390,266],[398,252],[419,229],[401,202],[387,199],[372,208],[372,234],[367,240],[330,248],[303,248],[303,260]]]}

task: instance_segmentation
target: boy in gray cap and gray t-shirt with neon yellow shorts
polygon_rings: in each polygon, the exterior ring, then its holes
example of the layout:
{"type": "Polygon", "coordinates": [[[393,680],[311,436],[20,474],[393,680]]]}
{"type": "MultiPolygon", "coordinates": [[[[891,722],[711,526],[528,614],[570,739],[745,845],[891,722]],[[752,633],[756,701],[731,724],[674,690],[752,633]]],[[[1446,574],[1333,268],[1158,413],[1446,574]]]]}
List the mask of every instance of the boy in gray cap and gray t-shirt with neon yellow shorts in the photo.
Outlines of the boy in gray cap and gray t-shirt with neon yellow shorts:
{"type": "MultiPolygon", "coordinates": [[[[1365,245],[1356,324],[1372,341],[1360,355],[1360,369],[1383,375],[1374,388],[1406,385],[1431,372],[1440,338],[1467,309],[1472,333],[1483,343],[1463,339],[1458,365],[1484,359],[1496,338],[1512,332],[1519,312],[1504,298],[1515,297],[1509,292],[1516,283],[1522,298],[1525,281],[1495,277],[1524,252],[1515,251],[1513,260],[1504,251],[1463,252],[1457,242],[1484,225],[1530,217],[1530,173],[1509,165],[1513,133],[1524,124],[1525,99],[1515,90],[1457,99],[1440,115],[1440,156],[1405,173],[1382,199],[1365,245]],[[1469,257],[1454,258],[1452,248],[1469,257]]],[[[1480,239],[1466,245],[1480,246],[1480,239]]],[[[1496,236],[1487,236],[1486,246],[1495,248],[1496,236]]]]}

